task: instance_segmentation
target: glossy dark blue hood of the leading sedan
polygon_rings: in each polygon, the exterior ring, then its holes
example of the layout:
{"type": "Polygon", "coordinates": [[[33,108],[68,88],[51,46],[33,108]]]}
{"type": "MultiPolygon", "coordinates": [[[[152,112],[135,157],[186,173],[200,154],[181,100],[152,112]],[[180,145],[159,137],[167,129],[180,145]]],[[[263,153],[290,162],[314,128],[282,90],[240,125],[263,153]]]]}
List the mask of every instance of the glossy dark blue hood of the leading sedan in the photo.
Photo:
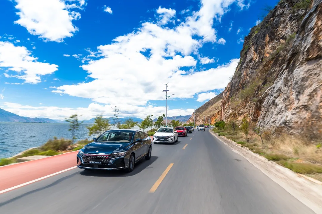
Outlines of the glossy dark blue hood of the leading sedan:
{"type": "Polygon", "coordinates": [[[113,152],[121,152],[126,149],[129,143],[124,142],[92,142],[83,149],[84,153],[91,154],[110,154],[113,152]]]}

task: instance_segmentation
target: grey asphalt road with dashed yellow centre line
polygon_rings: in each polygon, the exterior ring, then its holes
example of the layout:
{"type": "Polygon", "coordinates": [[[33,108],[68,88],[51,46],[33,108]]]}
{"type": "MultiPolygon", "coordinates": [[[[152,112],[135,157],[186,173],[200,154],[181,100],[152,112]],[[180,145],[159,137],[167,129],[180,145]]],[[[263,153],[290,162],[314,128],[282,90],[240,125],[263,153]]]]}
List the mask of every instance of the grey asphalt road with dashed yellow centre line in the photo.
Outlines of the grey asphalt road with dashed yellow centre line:
{"type": "Polygon", "coordinates": [[[180,137],[175,145],[153,144],[152,158],[140,161],[129,174],[77,168],[1,194],[0,213],[314,212],[206,130],[180,137]]]}

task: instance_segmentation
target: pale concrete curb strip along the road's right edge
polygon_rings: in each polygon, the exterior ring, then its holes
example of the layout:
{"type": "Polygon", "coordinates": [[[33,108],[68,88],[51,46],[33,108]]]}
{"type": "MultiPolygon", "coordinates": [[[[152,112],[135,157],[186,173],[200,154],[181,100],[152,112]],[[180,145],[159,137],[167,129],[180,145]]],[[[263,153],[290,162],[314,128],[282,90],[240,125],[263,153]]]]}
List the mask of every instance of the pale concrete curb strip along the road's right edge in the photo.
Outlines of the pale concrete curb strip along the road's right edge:
{"type": "Polygon", "coordinates": [[[234,141],[222,138],[213,133],[212,130],[209,131],[215,138],[248,160],[254,167],[258,168],[308,208],[317,214],[322,213],[322,185],[302,175],[299,176],[290,169],[282,167],[273,161],[269,161],[267,158],[253,153],[248,148],[242,147],[234,141]]]}

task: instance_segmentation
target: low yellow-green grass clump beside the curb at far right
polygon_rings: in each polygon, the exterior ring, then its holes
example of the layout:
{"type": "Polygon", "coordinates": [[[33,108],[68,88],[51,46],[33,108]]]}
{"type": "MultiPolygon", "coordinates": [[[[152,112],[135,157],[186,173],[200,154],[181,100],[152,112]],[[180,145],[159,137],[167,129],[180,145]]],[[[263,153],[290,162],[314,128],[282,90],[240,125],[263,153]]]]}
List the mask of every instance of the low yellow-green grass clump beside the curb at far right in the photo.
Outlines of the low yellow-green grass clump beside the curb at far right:
{"type": "Polygon", "coordinates": [[[310,163],[292,163],[289,161],[280,161],[279,164],[300,174],[322,173],[322,166],[310,163]]]}

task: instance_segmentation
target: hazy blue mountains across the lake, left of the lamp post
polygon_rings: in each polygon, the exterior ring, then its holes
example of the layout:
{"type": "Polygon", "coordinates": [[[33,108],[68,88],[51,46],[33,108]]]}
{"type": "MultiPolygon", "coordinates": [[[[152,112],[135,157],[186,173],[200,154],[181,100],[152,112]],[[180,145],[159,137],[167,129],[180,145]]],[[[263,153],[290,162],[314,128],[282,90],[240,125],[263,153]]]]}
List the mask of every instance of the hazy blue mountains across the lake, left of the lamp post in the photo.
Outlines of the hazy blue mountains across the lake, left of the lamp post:
{"type": "MultiPolygon", "coordinates": [[[[131,118],[133,121],[140,123],[142,121],[141,118],[137,117],[124,117],[120,118],[121,123],[123,123],[125,120],[131,118]]],[[[110,123],[113,122],[113,117],[108,117],[110,123]]],[[[92,118],[90,120],[84,120],[84,124],[93,124],[95,118],[92,118]]],[[[41,117],[23,117],[16,115],[14,113],[8,112],[4,109],[0,108],[0,122],[20,122],[20,123],[68,123],[64,120],[52,120],[49,118],[41,118],[41,117]]]]}

